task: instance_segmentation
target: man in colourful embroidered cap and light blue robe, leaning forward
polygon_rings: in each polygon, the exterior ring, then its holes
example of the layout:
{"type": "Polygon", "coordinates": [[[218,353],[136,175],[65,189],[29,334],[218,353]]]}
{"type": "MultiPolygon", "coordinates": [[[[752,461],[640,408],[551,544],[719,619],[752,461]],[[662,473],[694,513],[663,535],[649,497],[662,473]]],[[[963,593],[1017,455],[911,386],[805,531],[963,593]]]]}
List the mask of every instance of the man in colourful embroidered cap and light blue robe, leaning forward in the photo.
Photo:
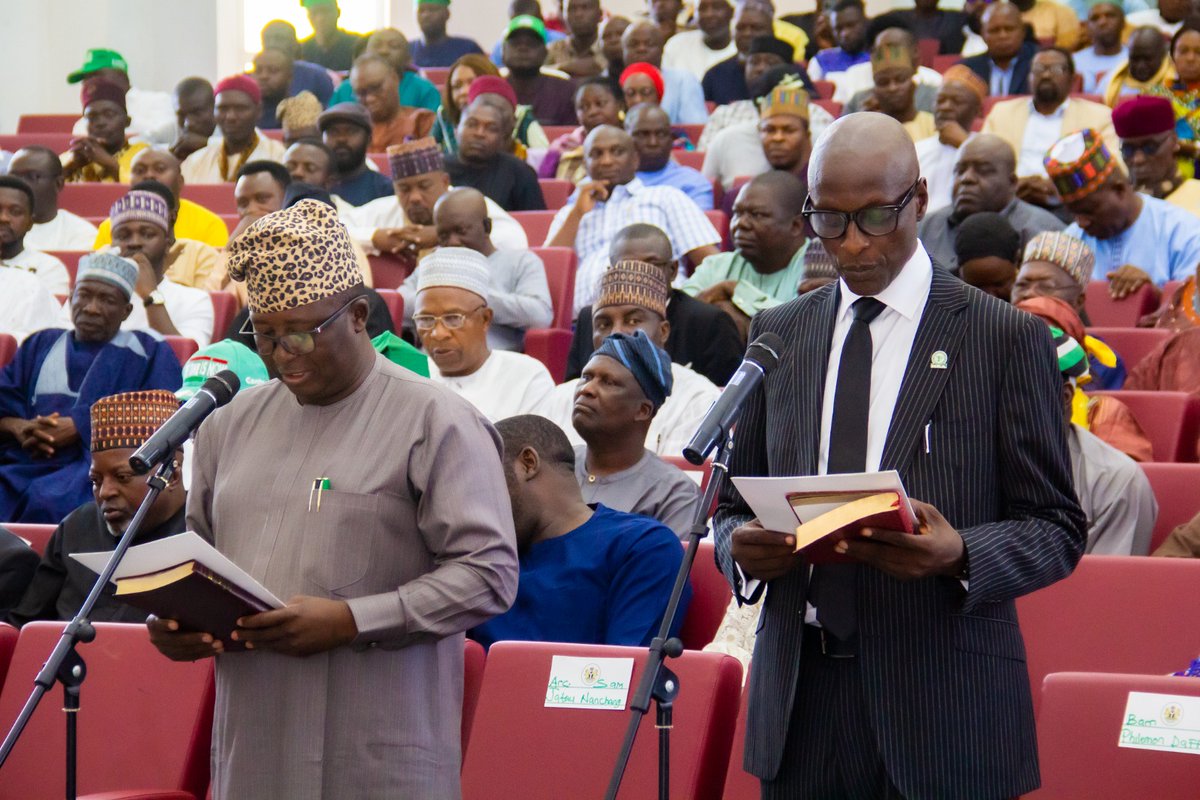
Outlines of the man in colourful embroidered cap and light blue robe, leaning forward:
{"type": "Polygon", "coordinates": [[[1200,263],[1196,217],[1138,192],[1103,139],[1090,128],[1058,140],[1045,157],[1063,205],[1067,231],[1096,253],[1093,281],[1121,300],[1139,287],[1184,281],[1200,263]]]}

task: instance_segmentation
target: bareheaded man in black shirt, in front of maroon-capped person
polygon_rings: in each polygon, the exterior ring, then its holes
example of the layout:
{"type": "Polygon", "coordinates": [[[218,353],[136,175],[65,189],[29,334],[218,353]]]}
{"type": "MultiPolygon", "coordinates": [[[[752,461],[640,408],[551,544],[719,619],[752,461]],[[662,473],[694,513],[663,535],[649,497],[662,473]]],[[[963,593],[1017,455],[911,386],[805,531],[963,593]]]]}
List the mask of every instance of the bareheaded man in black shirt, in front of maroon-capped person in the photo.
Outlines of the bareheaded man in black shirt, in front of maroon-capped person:
{"type": "Polygon", "coordinates": [[[516,124],[512,88],[491,76],[476,78],[473,86],[475,97],[458,121],[458,154],[445,160],[450,181],[478,188],[505,211],[544,211],[538,173],[508,152],[516,124]]]}

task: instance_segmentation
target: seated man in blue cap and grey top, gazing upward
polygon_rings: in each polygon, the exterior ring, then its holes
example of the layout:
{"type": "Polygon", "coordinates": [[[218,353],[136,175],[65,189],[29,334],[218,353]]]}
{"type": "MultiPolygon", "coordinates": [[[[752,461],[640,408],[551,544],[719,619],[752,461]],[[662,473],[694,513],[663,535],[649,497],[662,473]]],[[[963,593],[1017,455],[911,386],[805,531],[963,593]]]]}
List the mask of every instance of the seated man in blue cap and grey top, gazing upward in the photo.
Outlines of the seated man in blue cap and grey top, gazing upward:
{"type": "Polygon", "coordinates": [[[584,443],[575,447],[583,500],[653,517],[683,537],[700,487],[646,449],[650,423],[671,396],[668,365],[646,331],[606,336],[575,381],[570,420],[584,443]]]}

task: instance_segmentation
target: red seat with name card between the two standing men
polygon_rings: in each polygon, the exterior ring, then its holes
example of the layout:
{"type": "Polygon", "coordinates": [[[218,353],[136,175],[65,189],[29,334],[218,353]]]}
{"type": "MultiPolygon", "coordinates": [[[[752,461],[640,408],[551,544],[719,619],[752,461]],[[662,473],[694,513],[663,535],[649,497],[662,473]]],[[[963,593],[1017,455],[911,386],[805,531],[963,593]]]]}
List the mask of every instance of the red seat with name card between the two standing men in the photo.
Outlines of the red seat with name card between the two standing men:
{"type": "MultiPolygon", "coordinates": [[[[634,658],[631,688],[647,660],[642,648],[498,642],[487,654],[484,687],[463,762],[462,795],[599,798],[620,750],[628,712],[545,708],[551,658],[634,658]]],[[[742,666],[715,652],[672,658],[679,676],[671,733],[671,795],[716,800],[725,783],[737,718],[742,666]]],[[[658,787],[654,710],[642,720],[620,798],[654,796],[658,787]]]]}

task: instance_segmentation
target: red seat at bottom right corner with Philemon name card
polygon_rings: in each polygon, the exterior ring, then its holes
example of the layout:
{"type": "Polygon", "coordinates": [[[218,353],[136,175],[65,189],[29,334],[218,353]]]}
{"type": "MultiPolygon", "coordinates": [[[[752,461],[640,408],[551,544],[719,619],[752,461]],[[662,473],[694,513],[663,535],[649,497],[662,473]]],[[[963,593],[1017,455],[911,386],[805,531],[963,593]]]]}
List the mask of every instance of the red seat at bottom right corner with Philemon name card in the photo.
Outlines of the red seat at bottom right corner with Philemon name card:
{"type": "MultiPolygon", "coordinates": [[[[1186,664],[1180,664],[1181,667],[1186,664]]],[[[1200,697],[1200,680],[1165,675],[1093,674],[1046,676],[1038,716],[1042,788],[1030,800],[1192,800],[1200,783],[1195,753],[1120,747],[1130,692],[1200,697]]],[[[1037,690],[1034,690],[1037,691],[1037,690]]],[[[1174,735],[1162,718],[1163,735],[1174,735]]],[[[1195,738],[1196,721],[1184,717],[1180,735],[1195,738]]]]}

